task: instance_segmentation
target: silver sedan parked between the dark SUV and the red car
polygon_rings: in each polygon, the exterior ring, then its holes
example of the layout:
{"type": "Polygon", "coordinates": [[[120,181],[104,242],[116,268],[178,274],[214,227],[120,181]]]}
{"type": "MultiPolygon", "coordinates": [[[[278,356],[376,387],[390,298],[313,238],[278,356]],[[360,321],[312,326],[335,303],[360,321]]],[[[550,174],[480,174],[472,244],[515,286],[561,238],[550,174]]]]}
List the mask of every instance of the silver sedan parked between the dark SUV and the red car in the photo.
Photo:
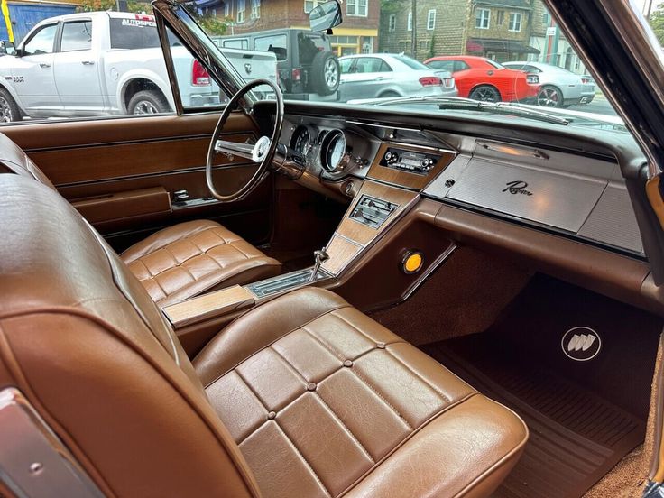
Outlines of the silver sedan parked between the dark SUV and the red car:
{"type": "Polygon", "coordinates": [[[449,71],[435,71],[406,55],[374,53],[347,55],[339,59],[339,100],[380,97],[457,97],[449,71]]]}

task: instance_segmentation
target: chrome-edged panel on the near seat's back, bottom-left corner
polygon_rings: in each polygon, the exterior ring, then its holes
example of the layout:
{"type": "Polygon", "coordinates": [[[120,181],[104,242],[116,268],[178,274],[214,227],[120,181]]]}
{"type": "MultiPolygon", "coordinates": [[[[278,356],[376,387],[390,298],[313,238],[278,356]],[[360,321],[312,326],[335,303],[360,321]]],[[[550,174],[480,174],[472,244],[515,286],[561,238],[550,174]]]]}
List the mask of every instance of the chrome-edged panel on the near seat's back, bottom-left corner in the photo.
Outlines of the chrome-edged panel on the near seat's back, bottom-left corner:
{"type": "Polygon", "coordinates": [[[0,392],[0,481],[19,498],[101,498],[97,485],[14,387],[0,392]]]}

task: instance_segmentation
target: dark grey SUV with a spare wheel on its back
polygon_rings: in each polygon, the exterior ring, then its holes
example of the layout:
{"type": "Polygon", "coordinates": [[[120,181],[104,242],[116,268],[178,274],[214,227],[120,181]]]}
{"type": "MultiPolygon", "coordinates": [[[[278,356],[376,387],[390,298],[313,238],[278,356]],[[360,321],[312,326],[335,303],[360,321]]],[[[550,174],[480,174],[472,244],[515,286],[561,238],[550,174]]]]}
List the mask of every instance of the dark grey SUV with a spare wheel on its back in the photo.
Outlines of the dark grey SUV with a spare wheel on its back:
{"type": "Polygon", "coordinates": [[[341,71],[324,33],[296,29],[213,37],[218,47],[272,51],[284,97],[297,100],[334,100],[341,71]]]}

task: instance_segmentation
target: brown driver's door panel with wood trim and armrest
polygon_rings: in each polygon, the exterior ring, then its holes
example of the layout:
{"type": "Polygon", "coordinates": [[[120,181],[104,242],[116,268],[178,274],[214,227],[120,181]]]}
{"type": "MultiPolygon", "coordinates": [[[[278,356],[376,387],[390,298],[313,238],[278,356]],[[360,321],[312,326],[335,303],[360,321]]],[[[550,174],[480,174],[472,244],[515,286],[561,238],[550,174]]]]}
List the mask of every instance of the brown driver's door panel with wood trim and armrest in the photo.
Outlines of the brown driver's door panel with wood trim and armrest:
{"type": "MultiPolygon", "coordinates": [[[[197,218],[217,219],[254,244],[271,234],[272,179],[231,204],[173,202],[173,193],[209,198],[205,181],[208,144],[218,115],[150,116],[16,124],[2,132],[14,140],[89,221],[122,251],[152,231],[197,218]],[[150,194],[150,195],[147,195],[150,194]]],[[[226,140],[255,137],[253,120],[231,115],[226,140]]],[[[254,165],[218,156],[213,176],[220,191],[242,185],[254,165]]]]}

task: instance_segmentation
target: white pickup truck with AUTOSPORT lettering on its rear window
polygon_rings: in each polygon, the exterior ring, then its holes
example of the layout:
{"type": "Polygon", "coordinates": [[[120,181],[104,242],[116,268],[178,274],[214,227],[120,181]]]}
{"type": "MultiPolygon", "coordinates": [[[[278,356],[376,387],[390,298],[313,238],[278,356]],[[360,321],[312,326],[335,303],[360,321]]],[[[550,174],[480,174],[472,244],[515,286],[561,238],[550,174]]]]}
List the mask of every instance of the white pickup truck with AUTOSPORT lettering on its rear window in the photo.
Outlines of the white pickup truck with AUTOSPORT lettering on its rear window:
{"type": "MultiPolygon", "coordinates": [[[[0,57],[0,121],[175,109],[152,15],[61,15],[36,24],[14,55],[7,45],[0,57]]],[[[272,52],[220,51],[246,80],[276,81],[272,52]]],[[[174,36],[171,53],[182,105],[219,105],[219,88],[174,36]]]]}

